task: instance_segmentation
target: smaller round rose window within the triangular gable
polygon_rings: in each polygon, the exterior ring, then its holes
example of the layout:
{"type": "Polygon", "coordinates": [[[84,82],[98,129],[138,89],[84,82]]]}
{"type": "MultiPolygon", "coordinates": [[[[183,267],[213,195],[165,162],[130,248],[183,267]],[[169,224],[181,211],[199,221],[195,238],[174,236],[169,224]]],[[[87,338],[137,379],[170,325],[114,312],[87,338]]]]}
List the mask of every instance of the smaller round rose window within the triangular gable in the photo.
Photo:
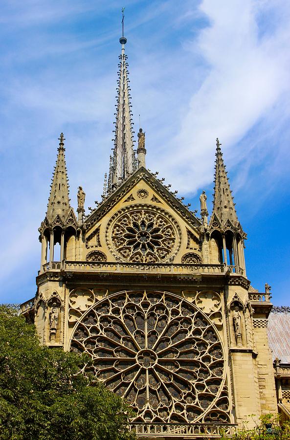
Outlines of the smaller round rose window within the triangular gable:
{"type": "Polygon", "coordinates": [[[123,208],[109,220],[107,243],[115,258],[132,263],[156,263],[174,258],[181,243],[177,221],[154,206],[123,208]]]}

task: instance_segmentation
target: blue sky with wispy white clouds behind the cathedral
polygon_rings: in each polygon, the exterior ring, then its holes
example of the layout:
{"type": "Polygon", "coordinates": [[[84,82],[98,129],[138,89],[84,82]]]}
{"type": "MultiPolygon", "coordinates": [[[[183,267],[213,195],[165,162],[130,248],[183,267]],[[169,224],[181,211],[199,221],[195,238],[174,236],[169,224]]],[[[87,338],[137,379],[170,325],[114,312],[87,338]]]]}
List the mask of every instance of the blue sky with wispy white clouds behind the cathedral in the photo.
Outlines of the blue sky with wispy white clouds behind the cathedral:
{"type": "Polygon", "coordinates": [[[289,305],[290,3],[285,0],[2,0],[0,301],[34,296],[60,132],[71,203],[100,199],[112,148],[125,6],[132,104],[147,166],[192,208],[211,206],[222,142],[247,275],[289,305]]]}

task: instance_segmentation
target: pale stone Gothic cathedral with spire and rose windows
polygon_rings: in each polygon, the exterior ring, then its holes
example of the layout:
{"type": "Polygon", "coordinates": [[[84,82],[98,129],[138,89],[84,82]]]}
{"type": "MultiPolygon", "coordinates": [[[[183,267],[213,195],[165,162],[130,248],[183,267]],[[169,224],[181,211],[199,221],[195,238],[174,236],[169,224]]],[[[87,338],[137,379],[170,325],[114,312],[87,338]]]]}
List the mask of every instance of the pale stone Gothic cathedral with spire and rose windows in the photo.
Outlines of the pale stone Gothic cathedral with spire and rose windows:
{"type": "Polygon", "coordinates": [[[230,435],[250,414],[284,408],[286,417],[290,360],[277,357],[273,367],[270,286],[259,293],[246,277],[246,234],[221,144],[217,139],[213,211],[209,217],[203,191],[197,217],[146,168],[142,129],[134,150],[126,42],[120,38],[102,201],[85,215],[79,187],[75,214],[62,133],[39,228],[37,294],[22,312],[42,344],[89,353],[89,371],[131,404],[130,429],[140,438],[212,439],[221,428],[230,435]]]}

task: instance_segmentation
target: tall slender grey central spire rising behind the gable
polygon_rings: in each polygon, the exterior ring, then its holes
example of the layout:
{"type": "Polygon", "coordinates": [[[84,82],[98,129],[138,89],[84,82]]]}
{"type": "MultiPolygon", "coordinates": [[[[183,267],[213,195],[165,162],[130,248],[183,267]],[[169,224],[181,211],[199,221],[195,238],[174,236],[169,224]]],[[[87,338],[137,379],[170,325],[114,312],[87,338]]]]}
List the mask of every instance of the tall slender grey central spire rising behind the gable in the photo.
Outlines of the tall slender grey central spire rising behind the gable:
{"type": "Polygon", "coordinates": [[[120,44],[122,45],[121,55],[119,55],[119,71],[117,80],[118,94],[116,104],[116,121],[115,121],[115,138],[113,155],[110,157],[110,170],[108,178],[108,193],[114,191],[120,180],[125,179],[136,169],[136,158],[134,152],[133,140],[133,122],[128,79],[128,63],[127,55],[125,55],[124,37],[124,8],[122,8],[122,37],[120,44]]]}

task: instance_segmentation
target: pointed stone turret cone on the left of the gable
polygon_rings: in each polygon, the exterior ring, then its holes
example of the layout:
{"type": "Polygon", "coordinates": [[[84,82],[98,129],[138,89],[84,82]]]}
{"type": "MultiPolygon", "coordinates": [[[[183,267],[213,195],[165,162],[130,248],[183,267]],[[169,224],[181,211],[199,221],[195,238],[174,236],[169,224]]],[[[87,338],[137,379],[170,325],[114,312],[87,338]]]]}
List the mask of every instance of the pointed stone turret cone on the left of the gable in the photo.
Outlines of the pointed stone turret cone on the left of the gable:
{"type": "Polygon", "coordinates": [[[65,137],[63,133],[60,134],[59,141],[58,155],[54,168],[46,213],[46,219],[49,223],[52,223],[57,216],[59,216],[60,220],[65,222],[70,209],[68,192],[69,185],[67,180],[65,159],[65,137]]]}

